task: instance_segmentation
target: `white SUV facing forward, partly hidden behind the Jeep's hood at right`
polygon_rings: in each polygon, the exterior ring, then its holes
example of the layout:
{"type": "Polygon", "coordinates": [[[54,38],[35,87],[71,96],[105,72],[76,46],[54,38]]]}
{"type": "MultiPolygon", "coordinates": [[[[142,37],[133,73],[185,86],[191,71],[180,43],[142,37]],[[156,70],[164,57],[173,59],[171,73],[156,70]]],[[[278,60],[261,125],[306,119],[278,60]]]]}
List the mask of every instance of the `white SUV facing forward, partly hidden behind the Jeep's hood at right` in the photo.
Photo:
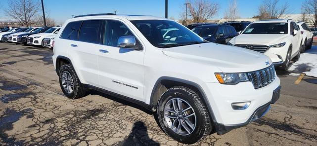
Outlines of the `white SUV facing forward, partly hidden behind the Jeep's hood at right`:
{"type": "Polygon", "coordinates": [[[302,41],[302,34],[293,20],[276,19],[251,23],[228,44],[264,53],[275,66],[287,71],[290,60],[299,59],[302,41]]]}

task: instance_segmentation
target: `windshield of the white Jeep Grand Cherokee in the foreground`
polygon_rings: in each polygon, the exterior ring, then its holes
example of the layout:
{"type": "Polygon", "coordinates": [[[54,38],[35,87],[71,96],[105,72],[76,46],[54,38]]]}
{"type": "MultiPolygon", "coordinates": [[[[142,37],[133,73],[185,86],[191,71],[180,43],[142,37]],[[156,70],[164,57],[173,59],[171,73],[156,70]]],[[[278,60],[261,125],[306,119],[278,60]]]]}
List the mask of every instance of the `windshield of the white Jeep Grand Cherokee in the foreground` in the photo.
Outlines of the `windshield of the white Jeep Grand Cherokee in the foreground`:
{"type": "Polygon", "coordinates": [[[131,22],[155,47],[167,48],[205,42],[201,37],[174,21],[134,20],[131,22]]]}

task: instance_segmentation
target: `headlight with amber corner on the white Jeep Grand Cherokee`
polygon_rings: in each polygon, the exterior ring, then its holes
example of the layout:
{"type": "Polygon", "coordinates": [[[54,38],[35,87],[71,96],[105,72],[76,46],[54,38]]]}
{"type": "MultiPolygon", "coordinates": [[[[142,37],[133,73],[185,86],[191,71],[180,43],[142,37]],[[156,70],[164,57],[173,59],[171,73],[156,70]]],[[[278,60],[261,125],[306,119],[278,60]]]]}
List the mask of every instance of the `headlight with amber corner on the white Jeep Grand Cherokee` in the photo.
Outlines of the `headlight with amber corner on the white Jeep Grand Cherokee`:
{"type": "Polygon", "coordinates": [[[222,84],[237,84],[243,81],[249,81],[246,73],[215,73],[218,81],[222,84]]]}

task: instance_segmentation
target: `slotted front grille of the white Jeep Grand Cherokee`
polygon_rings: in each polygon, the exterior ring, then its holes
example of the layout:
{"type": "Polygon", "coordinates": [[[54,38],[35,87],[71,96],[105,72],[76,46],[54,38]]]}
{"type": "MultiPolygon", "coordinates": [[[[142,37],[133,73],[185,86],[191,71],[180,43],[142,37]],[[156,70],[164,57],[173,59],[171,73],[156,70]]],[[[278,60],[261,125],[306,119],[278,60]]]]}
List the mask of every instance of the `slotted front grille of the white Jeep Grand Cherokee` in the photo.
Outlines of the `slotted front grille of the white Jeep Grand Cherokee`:
{"type": "Polygon", "coordinates": [[[255,89],[267,86],[275,79],[275,69],[271,65],[268,68],[248,73],[249,79],[255,89]]]}

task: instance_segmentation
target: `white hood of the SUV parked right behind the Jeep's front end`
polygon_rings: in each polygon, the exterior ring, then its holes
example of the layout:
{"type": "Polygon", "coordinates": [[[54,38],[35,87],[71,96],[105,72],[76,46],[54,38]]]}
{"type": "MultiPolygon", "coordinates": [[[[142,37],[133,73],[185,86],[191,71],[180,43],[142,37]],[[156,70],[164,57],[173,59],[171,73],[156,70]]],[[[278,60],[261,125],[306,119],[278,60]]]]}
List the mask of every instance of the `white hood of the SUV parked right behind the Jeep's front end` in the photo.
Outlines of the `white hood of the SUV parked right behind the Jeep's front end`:
{"type": "Polygon", "coordinates": [[[287,34],[241,34],[232,38],[229,42],[232,44],[264,44],[272,45],[281,43],[287,34]]]}

